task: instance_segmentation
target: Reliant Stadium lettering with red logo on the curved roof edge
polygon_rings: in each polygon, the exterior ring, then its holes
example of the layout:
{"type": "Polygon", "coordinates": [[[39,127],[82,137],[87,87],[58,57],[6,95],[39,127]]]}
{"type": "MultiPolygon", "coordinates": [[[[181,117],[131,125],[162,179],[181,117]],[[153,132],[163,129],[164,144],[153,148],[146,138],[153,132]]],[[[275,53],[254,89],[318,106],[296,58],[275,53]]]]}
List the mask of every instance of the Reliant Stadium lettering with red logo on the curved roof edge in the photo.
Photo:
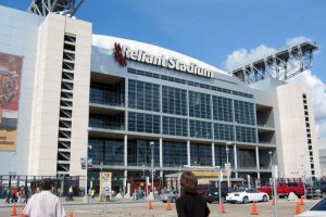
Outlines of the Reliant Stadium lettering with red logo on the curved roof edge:
{"type": "Polygon", "coordinates": [[[195,63],[186,64],[181,63],[178,59],[175,58],[165,58],[164,55],[152,55],[147,53],[143,50],[130,50],[129,47],[123,46],[120,43],[114,43],[114,56],[121,63],[122,66],[127,66],[127,61],[133,60],[141,63],[147,63],[151,65],[158,65],[166,67],[170,69],[176,69],[184,73],[189,73],[193,75],[199,75],[203,77],[212,77],[213,72],[206,68],[197,66],[195,63]]]}

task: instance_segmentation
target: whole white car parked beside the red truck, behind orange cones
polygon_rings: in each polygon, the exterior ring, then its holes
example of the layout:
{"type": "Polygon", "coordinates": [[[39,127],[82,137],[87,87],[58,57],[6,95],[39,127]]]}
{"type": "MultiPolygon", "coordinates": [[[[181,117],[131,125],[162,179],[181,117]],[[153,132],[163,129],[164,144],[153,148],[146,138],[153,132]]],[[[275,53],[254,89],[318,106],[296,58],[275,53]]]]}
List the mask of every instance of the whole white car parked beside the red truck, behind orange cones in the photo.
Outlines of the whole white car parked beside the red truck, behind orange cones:
{"type": "Polygon", "coordinates": [[[236,191],[228,193],[226,195],[226,202],[230,202],[230,203],[236,203],[236,202],[240,202],[240,203],[248,203],[248,202],[259,202],[259,201],[263,201],[263,202],[267,202],[269,200],[268,194],[263,193],[263,192],[259,192],[255,189],[237,189],[236,191]]]}

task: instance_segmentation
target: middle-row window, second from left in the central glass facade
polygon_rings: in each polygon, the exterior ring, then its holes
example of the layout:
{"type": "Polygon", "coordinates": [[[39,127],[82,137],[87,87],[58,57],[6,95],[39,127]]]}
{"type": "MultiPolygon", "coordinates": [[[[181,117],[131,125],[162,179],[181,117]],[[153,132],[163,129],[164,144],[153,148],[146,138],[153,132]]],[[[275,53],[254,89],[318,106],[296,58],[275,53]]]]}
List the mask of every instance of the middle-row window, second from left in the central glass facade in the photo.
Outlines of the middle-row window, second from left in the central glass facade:
{"type": "Polygon", "coordinates": [[[178,117],[163,116],[163,135],[188,136],[188,120],[178,117]]]}

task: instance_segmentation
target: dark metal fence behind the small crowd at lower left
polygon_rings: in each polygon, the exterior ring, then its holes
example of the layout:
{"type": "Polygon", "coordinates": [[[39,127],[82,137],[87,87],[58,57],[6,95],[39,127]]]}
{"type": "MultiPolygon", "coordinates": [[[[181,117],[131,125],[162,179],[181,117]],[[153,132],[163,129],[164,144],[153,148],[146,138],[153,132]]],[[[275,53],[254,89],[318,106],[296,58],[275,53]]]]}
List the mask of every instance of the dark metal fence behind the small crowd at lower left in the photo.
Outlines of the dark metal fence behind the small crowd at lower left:
{"type": "MultiPolygon", "coordinates": [[[[53,177],[53,176],[13,176],[0,175],[0,197],[7,196],[7,190],[18,188],[24,193],[24,189],[28,189],[34,194],[40,189],[41,180],[50,178],[53,183],[52,193],[58,196],[65,196],[70,187],[73,187],[74,195],[84,195],[84,188],[79,187],[79,176],[53,177]]],[[[85,179],[82,177],[82,179],[85,179]]],[[[23,195],[24,196],[24,195],[23,195]]]]}

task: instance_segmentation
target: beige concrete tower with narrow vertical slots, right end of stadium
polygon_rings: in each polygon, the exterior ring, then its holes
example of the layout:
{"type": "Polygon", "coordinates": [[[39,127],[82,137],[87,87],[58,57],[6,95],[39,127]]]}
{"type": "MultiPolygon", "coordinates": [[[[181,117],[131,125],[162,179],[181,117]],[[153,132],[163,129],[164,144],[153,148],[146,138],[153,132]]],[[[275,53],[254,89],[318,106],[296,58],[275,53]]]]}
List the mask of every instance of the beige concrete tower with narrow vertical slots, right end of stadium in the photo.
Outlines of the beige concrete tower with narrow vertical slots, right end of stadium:
{"type": "Polygon", "coordinates": [[[279,162],[284,177],[311,177],[310,155],[305,128],[305,116],[302,94],[306,94],[310,129],[313,146],[315,177],[321,177],[318,150],[315,133],[313,103],[308,87],[299,84],[287,84],[277,88],[278,120],[280,125],[283,161],[279,162]]]}

